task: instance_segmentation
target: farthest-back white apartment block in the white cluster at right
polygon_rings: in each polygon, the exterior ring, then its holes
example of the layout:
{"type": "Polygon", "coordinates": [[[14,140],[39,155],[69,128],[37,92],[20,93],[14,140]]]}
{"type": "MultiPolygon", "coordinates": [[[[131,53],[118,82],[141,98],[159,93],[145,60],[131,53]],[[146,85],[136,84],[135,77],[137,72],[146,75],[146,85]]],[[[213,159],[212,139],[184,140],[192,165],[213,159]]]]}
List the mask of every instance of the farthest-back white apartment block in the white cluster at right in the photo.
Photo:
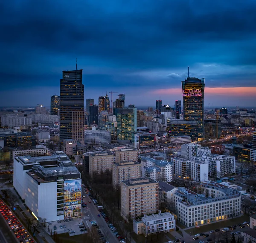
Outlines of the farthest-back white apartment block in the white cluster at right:
{"type": "Polygon", "coordinates": [[[186,160],[192,160],[193,156],[203,156],[212,154],[211,149],[202,147],[197,143],[181,145],[181,156],[186,160]]]}

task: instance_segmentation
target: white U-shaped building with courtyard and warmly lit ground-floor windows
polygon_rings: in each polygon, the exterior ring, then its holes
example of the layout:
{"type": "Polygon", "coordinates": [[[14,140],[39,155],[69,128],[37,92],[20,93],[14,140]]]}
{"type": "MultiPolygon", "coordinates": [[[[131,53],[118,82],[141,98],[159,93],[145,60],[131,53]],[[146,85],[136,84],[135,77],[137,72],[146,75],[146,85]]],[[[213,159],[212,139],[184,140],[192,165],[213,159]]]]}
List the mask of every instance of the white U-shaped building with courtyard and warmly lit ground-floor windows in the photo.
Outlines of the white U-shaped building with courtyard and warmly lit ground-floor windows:
{"type": "Polygon", "coordinates": [[[238,190],[216,182],[201,186],[204,195],[183,187],[175,192],[177,220],[181,223],[187,227],[200,226],[241,214],[241,194],[238,190]]]}

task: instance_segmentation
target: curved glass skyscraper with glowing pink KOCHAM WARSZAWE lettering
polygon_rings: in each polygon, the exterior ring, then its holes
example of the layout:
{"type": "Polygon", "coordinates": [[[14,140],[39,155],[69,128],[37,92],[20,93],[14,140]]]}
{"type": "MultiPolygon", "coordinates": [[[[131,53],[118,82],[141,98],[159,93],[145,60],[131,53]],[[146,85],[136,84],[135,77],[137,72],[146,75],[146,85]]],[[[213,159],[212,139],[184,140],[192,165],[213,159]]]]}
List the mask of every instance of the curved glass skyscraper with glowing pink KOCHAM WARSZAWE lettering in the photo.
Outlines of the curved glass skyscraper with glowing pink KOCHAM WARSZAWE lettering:
{"type": "Polygon", "coordinates": [[[204,138],[204,78],[188,77],[181,83],[183,119],[198,123],[198,140],[202,140],[204,138]]]}

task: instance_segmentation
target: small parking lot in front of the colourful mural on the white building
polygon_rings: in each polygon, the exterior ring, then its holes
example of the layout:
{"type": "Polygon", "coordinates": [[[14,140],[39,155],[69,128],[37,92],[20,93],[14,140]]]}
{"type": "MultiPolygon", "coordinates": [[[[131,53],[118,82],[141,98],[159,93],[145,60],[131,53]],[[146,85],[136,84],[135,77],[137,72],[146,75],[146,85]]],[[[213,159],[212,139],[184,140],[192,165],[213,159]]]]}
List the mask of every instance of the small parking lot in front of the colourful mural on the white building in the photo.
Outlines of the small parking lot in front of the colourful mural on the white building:
{"type": "MultiPolygon", "coordinates": [[[[72,221],[64,222],[64,220],[50,222],[47,223],[47,232],[48,234],[53,234],[53,232],[57,232],[57,234],[69,233],[70,235],[83,234],[87,231],[81,232],[81,228],[79,228],[79,223],[83,223],[81,217],[72,218],[72,221]],[[55,227],[56,226],[56,227],[55,227]],[[55,228],[55,229],[54,229],[55,228]]],[[[87,226],[85,226],[87,228],[87,226]]]]}

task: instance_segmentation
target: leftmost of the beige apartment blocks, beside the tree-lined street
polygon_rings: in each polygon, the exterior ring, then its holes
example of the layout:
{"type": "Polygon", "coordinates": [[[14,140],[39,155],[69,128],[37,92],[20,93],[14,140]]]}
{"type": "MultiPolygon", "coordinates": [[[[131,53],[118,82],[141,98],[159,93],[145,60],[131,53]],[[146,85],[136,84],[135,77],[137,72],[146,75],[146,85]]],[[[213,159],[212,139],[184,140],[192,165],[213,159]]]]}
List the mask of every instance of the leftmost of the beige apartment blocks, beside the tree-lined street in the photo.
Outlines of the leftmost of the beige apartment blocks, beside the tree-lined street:
{"type": "Polygon", "coordinates": [[[109,170],[112,172],[112,166],[114,163],[114,156],[108,152],[99,152],[95,154],[89,154],[89,173],[100,174],[109,170]]]}

